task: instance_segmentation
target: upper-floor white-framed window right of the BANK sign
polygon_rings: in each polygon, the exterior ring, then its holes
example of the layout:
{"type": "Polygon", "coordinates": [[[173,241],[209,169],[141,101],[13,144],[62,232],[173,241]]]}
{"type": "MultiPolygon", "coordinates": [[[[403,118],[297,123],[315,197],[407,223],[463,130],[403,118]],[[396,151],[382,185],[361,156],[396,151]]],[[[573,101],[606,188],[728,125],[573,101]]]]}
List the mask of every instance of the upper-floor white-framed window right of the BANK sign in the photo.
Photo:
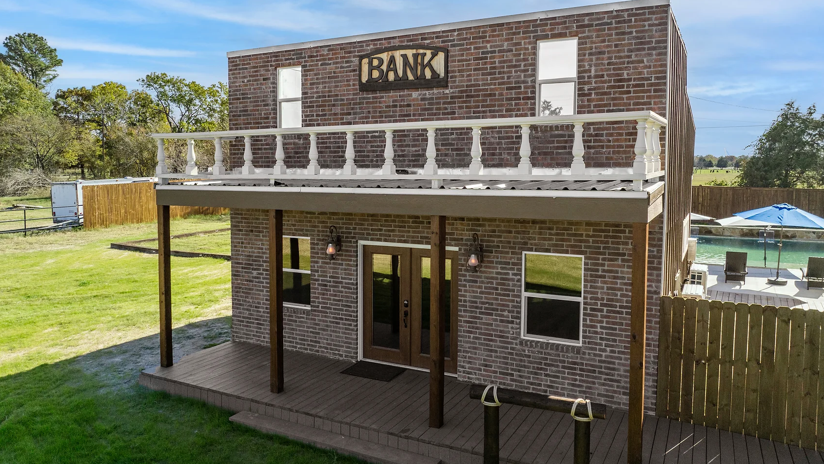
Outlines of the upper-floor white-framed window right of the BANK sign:
{"type": "Polygon", "coordinates": [[[537,115],[574,115],[578,37],[538,42],[537,115]]]}

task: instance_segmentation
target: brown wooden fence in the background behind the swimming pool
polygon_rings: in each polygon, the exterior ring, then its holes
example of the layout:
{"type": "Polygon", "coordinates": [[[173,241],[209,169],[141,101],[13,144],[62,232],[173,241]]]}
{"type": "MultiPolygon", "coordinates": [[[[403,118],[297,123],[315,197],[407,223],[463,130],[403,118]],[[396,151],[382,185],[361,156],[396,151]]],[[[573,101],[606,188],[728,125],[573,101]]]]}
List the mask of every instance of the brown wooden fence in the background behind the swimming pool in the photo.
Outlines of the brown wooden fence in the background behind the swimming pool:
{"type": "Polygon", "coordinates": [[[692,213],[712,218],[728,218],[734,213],[780,203],[824,216],[824,189],[692,186],[692,213]]]}

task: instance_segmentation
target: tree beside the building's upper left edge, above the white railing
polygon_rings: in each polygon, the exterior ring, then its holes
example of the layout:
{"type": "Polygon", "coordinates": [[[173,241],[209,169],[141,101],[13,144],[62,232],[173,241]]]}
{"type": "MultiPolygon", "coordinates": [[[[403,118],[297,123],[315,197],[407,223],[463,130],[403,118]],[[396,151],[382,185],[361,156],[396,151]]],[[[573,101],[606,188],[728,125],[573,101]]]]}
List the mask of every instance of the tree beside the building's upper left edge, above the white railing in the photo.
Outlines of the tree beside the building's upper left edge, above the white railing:
{"type": "Polygon", "coordinates": [[[223,82],[204,87],[166,73],[151,73],[138,82],[152,95],[154,110],[171,132],[228,129],[228,88],[223,82]]]}

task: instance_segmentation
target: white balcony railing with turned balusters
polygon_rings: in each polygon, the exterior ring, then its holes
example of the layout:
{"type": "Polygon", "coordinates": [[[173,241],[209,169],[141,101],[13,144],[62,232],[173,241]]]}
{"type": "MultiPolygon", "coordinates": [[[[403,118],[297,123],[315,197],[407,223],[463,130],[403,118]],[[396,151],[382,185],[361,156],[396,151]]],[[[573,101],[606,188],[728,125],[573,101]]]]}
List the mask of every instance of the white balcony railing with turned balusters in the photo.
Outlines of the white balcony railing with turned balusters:
{"type": "MultiPolygon", "coordinates": [[[[644,180],[657,180],[663,175],[661,167],[661,128],[667,126],[667,120],[657,115],[653,111],[625,111],[616,113],[602,113],[594,115],[568,115],[568,116],[541,116],[530,118],[500,118],[486,120],[444,120],[444,121],[422,121],[413,123],[397,124],[351,124],[341,126],[318,126],[311,128],[290,128],[290,129],[252,129],[252,130],[228,130],[220,132],[203,132],[188,134],[152,134],[157,139],[157,176],[162,181],[172,178],[185,179],[187,176],[204,178],[213,176],[215,179],[288,179],[288,178],[350,178],[375,179],[376,176],[396,178],[431,179],[433,186],[440,185],[439,180],[445,179],[483,179],[492,178],[501,180],[633,180],[636,188],[640,188],[644,180]],[[634,153],[631,166],[593,168],[587,166],[587,150],[584,143],[585,124],[597,124],[604,122],[630,122],[634,124],[637,133],[635,134],[634,149],[630,151],[627,147],[625,154],[634,153]],[[567,166],[535,166],[531,161],[532,148],[530,134],[533,126],[571,124],[573,126],[573,146],[572,163],[567,166]],[[483,131],[485,129],[512,128],[521,134],[521,145],[518,150],[517,166],[485,168],[483,161],[483,131]],[[471,134],[472,143],[467,152],[471,157],[469,166],[465,169],[448,168],[443,169],[438,166],[438,152],[435,139],[438,129],[466,129],[467,134],[471,134]],[[426,162],[420,168],[405,169],[409,174],[398,174],[395,164],[395,148],[393,147],[394,132],[404,130],[425,131],[426,145],[421,147],[425,150],[426,162]],[[361,169],[356,163],[357,152],[354,140],[357,133],[383,133],[386,140],[383,151],[383,164],[378,169],[361,169]],[[303,166],[287,166],[285,163],[286,152],[283,148],[283,136],[289,134],[308,134],[309,152],[307,153],[308,163],[303,166]],[[342,152],[344,155],[343,169],[323,169],[318,162],[318,136],[327,134],[344,134],[342,141],[342,152]],[[252,149],[253,138],[275,137],[274,166],[255,166],[255,153],[252,149]],[[223,168],[222,141],[243,138],[243,164],[239,169],[231,172],[223,168]],[[185,139],[187,141],[186,166],[184,173],[171,173],[166,164],[166,153],[164,151],[165,139],[185,139]],[[214,166],[211,172],[199,172],[196,164],[194,152],[194,140],[213,140],[214,142],[214,166]],[[344,145],[345,144],[345,145],[344,145]],[[345,147],[345,148],[344,148],[345,147]],[[304,167],[305,166],[305,167],[304,167]]],[[[423,135],[423,134],[422,134],[423,135]]],[[[328,146],[328,144],[327,144],[328,146]]],[[[615,153],[620,155],[619,153],[615,153]]],[[[374,164],[377,153],[369,153],[370,164],[374,164]]],[[[304,158],[306,159],[306,158],[304,158]]],[[[339,163],[335,163],[340,166],[339,163]]],[[[629,165],[629,163],[628,163],[629,165]]],[[[407,166],[403,166],[407,167],[407,166]]]]}

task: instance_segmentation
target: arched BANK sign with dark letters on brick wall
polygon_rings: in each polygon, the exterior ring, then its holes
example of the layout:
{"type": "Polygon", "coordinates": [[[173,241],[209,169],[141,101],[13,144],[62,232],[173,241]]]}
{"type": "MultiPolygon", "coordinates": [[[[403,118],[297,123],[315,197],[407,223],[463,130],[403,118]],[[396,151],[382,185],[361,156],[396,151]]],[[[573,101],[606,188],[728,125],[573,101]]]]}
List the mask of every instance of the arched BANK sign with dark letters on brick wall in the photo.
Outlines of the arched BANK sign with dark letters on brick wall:
{"type": "Polygon", "coordinates": [[[378,49],[359,59],[358,90],[447,87],[449,50],[426,45],[378,49]]]}

